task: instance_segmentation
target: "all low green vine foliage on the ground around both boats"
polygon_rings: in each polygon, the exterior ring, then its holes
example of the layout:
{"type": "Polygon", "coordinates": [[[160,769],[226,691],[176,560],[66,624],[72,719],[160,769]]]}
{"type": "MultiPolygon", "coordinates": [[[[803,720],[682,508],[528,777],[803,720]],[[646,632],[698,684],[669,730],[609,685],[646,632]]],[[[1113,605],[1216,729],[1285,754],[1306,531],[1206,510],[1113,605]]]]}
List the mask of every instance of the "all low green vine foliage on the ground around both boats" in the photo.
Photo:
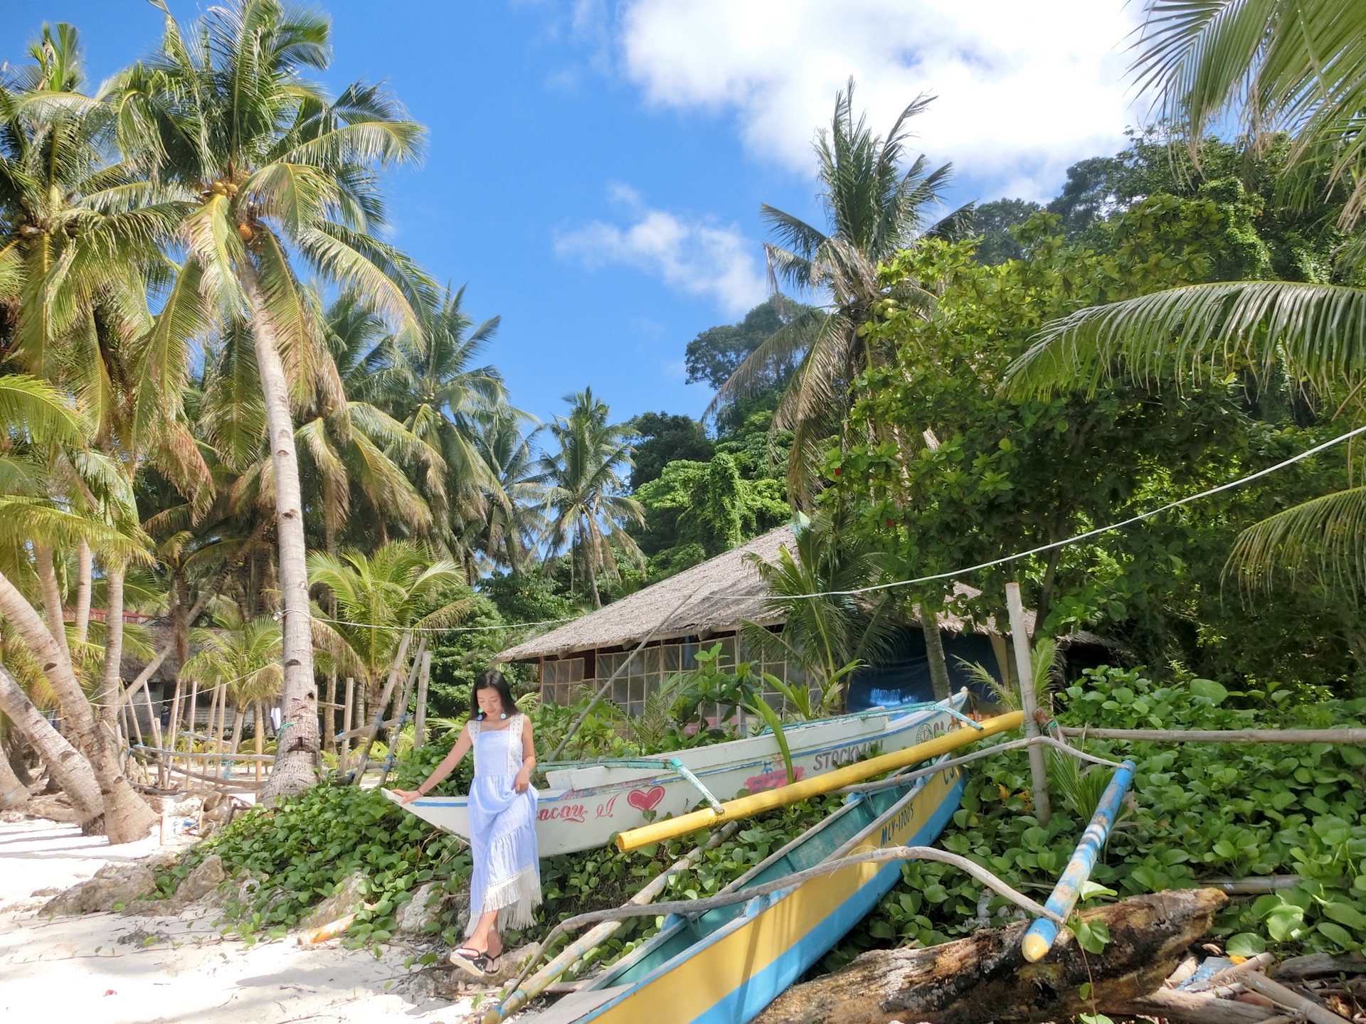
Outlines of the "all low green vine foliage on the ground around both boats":
{"type": "MultiPolygon", "coordinates": [[[[1229,692],[1212,680],[1157,683],[1135,670],[1096,669],[1056,700],[1060,722],[1096,728],[1329,728],[1366,717],[1366,700],[1317,696],[1287,687],[1229,692]]],[[[534,711],[538,728],[545,729],[538,733],[542,744],[553,733],[552,718],[574,711],[553,706],[534,711]]],[[[597,743],[607,743],[608,733],[608,745],[631,752],[630,744],[611,732],[609,720],[598,726],[597,743]]],[[[399,766],[396,785],[410,788],[425,778],[449,751],[455,735],[414,751],[399,766]]],[[[579,751],[590,756],[591,736],[579,751]]],[[[1216,920],[1214,937],[1243,954],[1265,948],[1292,954],[1366,945],[1366,825],[1359,823],[1366,807],[1366,754],[1361,748],[1100,741],[1089,741],[1086,748],[1115,759],[1130,756],[1138,765],[1124,816],[1091,875],[1097,883],[1093,898],[1193,886],[1212,877],[1298,874],[1305,881],[1294,889],[1231,900],[1216,920]]],[[[607,752],[597,751],[597,756],[607,752]]],[[[1063,780],[1055,778],[1055,814],[1046,826],[1031,814],[1027,771],[1022,751],[977,762],[962,808],[938,844],[1042,898],[1086,823],[1085,814],[1068,807],[1064,785],[1094,792],[1098,778],[1090,776],[1104,777],[1109,770],[1086,769],[1082,786],[1075,780],[1059,785],[1063,780]]],[[[464,792],[469,777],[466,760],[437,792],[464,792]]],[[[840,799],[820,797],[746,822],[735,837],[708,851],[694,870],[675,875],[661,898],[716,893],[821,821],[840,799]]],[[[705,840],[705,833],[697,833],[632,853],[605,848],[544,859],[545,902],[538,923],[526,934],[510,934],[508,941],[541,938],[563,918],[624,902],[705,840]]],[[[236,879],[235,889],[247,874],[260,881],[243,901],[229,901],[224,911],[225,924],[247,937],[283,935],[347,877],[362,871],[372,908],[347,933],[357,945],[389,938],[399,907],[422,883],[437,882],[459,894],[470,871],[469,851],[455,837],[373,791],[329,785],[239,816],[161,877],[163,894],[209,853],[223,857],[236,879]]],[[[459,939],[460,902],[454,900],[429,927],[433,938],[459,939]]],[[[1015,916],[1012,905],[956,868],[906,863],[902,882],[832,950],[825,967],[840,967],[873,946],[932,945],[1015,916]]],[[[658,923],[645,918],[624,926],[591,952],[587,964],[611,963],[653,935],[658,923]]],[[[1104,937],[1091,938],[1100,942],[1104,937]]]]}

